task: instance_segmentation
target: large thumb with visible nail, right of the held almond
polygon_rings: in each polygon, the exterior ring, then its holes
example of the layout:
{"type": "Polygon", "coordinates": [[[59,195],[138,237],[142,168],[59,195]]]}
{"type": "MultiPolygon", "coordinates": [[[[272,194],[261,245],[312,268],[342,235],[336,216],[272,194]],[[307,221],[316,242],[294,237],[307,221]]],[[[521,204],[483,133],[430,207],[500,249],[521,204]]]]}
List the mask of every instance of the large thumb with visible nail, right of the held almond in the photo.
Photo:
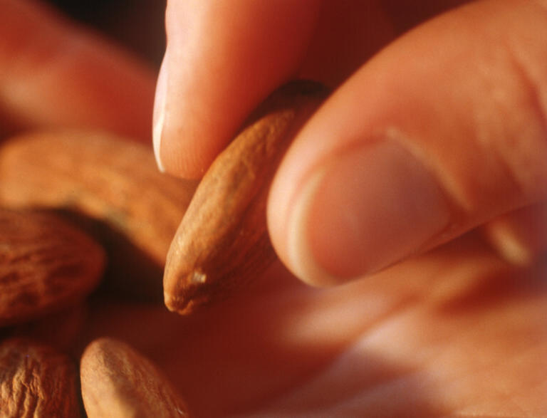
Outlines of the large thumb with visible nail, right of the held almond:
{"type": "Polygon", "coordinates": [[[271,189],[271,238],[293,273],[358,278],[546,197],[546,8],[464,6],[338,89],[271,189]]]}

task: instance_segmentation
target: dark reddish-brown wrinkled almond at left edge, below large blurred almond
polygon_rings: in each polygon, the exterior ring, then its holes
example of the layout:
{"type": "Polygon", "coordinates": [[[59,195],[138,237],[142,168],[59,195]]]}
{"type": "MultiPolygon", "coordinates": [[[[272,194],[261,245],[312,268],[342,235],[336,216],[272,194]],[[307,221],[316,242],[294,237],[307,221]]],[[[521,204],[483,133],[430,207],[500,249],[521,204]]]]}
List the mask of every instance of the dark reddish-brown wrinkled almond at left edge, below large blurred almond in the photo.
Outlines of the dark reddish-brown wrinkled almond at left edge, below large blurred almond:
{"type": "Polygon", "coordinates": [[[58,216],[0,209],[0,325],[78,303],[104,264],[103,249],[58,216]]]}

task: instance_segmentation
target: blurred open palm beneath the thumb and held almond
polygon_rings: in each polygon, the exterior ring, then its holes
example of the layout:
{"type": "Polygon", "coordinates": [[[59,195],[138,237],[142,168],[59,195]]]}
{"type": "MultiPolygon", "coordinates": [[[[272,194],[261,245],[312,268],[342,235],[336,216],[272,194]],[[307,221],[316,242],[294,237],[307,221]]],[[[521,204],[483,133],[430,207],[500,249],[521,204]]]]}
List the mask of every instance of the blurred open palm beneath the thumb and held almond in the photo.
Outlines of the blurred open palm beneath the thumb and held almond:
{"type": "Polygon", "coordinates": [[[546,274],[467,235],[328,289],[276,264],[189,316],[94,303],[86,340],[130,343],[197,417],[543,417],[546,274]]]}

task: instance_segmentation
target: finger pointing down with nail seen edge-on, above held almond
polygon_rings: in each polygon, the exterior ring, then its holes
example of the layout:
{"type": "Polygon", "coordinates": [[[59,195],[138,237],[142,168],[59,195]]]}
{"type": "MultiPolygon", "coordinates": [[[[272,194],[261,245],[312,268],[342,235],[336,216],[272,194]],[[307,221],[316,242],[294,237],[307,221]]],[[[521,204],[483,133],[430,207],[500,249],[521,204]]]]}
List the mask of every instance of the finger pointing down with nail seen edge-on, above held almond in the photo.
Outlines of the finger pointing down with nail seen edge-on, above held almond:
{"type": "Polygon", "coordinates": [[[202,177],[256,105],[296,73],[320,3],[168,4],[167,88],[157,93],[154,125],[160,167],[202,177]]]}

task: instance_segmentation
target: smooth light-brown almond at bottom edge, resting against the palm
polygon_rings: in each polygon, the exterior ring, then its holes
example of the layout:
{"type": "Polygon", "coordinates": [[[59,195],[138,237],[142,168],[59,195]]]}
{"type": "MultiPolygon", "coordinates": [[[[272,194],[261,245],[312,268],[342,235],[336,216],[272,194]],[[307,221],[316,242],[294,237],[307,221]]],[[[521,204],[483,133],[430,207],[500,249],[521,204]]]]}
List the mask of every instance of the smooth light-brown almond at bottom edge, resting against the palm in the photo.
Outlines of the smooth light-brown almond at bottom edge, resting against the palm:
{"type": "Polygon", "coordinates": [[[100,338],[80,361],[83,404],[89,418],[181,418],[187,407],[167,378],[129,345],[100,338]]]}

